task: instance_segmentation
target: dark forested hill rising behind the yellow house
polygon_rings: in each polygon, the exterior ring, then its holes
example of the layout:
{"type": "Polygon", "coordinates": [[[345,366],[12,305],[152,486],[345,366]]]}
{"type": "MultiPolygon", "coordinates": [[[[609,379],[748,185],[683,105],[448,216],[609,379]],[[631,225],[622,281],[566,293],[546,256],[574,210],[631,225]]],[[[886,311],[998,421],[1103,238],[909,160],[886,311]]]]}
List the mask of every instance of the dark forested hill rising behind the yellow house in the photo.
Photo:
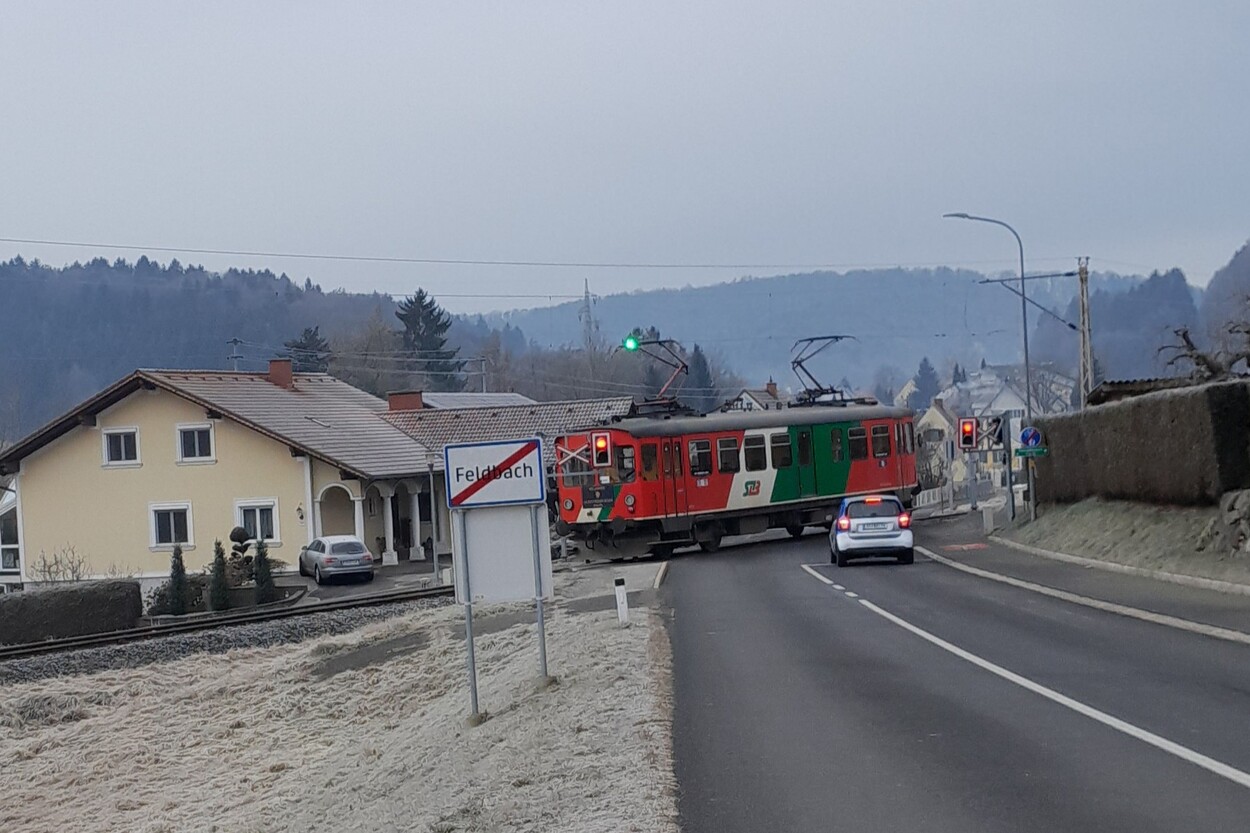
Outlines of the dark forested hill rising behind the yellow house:
{"type": "Polygon", "coordinates": [[[216,274],[176,260],[50,268],[0,263],[0,440],[12,440],[135,368],[229,368],[229,339],[258,368],[305,326],[351,328],[386,295],[322,293],[270,271],[216,274]]]}

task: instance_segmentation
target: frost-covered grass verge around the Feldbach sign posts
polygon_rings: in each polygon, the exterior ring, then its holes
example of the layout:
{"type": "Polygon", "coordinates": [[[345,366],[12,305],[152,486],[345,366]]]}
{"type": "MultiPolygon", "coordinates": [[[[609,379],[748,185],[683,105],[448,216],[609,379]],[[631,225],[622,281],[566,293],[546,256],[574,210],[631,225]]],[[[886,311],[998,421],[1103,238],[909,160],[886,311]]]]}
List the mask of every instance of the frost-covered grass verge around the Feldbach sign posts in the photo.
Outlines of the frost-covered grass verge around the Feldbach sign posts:
{"type": "Polygon", "coordinates": [[[676,830],[656,614],[555,612],[548,688],[532,625],[479,635],[471,728],[459,617],[0,687],[0,830],[676,830]]]}

